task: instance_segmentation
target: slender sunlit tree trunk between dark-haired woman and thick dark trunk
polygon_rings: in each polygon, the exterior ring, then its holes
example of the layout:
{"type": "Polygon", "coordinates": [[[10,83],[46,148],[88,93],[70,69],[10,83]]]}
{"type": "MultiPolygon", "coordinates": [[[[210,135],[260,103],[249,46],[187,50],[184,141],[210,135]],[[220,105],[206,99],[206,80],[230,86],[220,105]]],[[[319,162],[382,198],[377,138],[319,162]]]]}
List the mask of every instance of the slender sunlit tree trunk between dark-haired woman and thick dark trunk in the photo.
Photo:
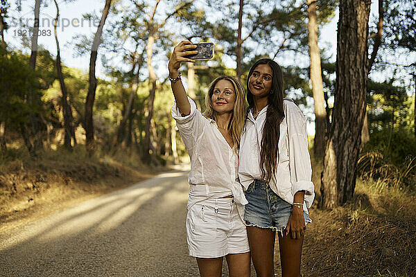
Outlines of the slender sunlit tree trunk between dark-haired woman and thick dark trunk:
{"type": "Polygon", "coordinates": [[[311,82],[313,93],[313,107],[315,109],[315,140],[313,152],[315,157],[324,157],[326,112],[324,106],[324,88],[322,87],[322,75],[320,64],[320,51],[318,47],[318,24],[316,22],[316,1],[307,0],[308,5],[308,39],[309,56],[311,58],[311,82]]]}

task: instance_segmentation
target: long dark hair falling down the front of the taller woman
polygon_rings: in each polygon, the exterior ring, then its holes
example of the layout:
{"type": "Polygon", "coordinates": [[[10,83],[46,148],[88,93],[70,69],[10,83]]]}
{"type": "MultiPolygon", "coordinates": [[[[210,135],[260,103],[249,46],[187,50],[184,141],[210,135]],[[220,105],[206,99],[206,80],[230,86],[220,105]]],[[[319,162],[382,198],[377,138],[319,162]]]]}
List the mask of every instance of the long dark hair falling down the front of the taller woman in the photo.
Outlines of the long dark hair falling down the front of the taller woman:
{"type": "Polygon", "coordinates": [[[270,181],[272,175],[275,175],[277,167],[277,159],[279,157],[280,123],[284,118],[283,75],[279,64],[273,60],[261,59],[253,64],[247,78],[247,115],[248,111],[254,108],[254,99],[248,84],[254,69],[259,64],[268,64],[273,71],[272,88],[268,94],[268,108],[266,112],[266,122],[263,127],[263,139],[261,139],[260,152],[261,179],[270,181]]]}

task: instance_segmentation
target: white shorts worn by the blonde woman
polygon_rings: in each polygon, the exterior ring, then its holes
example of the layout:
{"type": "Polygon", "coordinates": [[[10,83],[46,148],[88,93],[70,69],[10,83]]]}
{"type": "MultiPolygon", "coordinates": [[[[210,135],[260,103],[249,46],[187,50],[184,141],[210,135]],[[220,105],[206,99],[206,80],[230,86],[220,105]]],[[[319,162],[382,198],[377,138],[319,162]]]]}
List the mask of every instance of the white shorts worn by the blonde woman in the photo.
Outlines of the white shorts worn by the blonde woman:
{"type": "Polygon", "coordinates": [[[232,198],[206,199],[193,204],[187,214],[189,256],[219,258],[246,253],[247,231],[232,198]]]}

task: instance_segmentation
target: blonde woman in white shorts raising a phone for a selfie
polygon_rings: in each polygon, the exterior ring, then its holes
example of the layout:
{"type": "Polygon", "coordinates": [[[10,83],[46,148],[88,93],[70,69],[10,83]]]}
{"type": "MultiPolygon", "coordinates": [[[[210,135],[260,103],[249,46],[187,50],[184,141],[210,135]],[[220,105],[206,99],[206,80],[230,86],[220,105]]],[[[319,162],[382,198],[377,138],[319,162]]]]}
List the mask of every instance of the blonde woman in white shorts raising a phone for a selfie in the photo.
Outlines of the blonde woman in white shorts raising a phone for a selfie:
{"type": "Polygon", "coordinates": [[[194,62],[191,42],[180,42],[168,70],[175,104],[172,116],[191,158],[187,204],[189,255],[200,276],[221,276],[223,257],[229,276],[250,276],[250,248],[243,223],[247,204],[238,179],[239,141],[245,120],[241,83],[232,76],[211,82],[202,115],[180,79],[181,62],[194,62]]]}

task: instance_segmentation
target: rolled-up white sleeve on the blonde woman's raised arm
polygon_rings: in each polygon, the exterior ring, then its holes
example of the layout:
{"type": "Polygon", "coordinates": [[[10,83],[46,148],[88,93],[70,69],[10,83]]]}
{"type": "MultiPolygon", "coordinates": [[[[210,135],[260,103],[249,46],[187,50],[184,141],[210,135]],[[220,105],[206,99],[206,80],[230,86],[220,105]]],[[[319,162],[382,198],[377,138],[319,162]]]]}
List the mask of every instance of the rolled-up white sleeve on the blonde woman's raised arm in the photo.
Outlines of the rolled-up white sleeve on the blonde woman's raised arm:
{"type": "Polygon", "coordinates": [[[196,108],[196,103],[188,96],[189,104],[191,105],[191,112],[187,116],[182,116],[179,109],[176,106],[176,102],[173,102],[173,107],[171,109],[171,115],[176,120],[177,129],[179,129],[180,136],[182,141],[184,141],[185,146],[191,157],[191,152],[198,137],[202,133],[203,121],[207,120],[202,116],[200,111],[196,108]]]}

